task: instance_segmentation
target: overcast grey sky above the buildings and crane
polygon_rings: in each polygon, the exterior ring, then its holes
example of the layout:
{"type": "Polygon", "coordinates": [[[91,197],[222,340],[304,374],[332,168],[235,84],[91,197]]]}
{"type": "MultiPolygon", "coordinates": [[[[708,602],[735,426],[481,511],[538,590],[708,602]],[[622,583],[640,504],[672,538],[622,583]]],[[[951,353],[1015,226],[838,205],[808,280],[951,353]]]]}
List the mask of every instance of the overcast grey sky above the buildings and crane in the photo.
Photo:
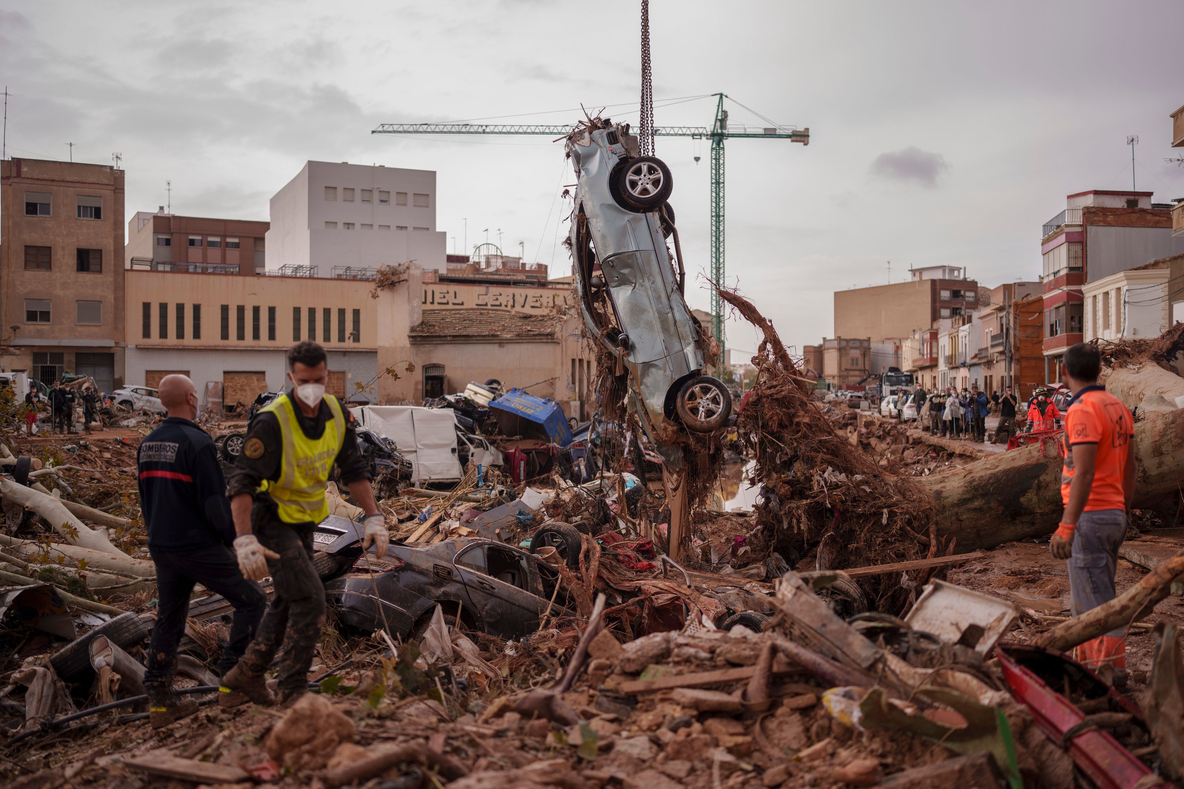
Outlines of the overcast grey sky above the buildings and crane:
{"type": "MultiPolygon", "coordinates": [[[[572,173],[542,137],[371,135],[382,122],[637,119],[637,0],[0,2],[8,155],[110,163],[127,212],[268,219],[305,160],[432,169],[437,226],[570,272],[572,173]]],[[[809,147],[727,143],[727,277],[797,345],[832,334],[832,292],[964,265],[1034,279],[1064,195],[1184,196],[1164,160],[1184,104],[1184,4],[652,0],[658,125],[810,127],[809,147]],[[1175,88],[1173,88],[1175,85],[1175,88]],[[701,98],[690,98],[701,97],[701,98]],[[744,106],[741,106],[741,104],[744,106]]],[[[658,138],[706,308],[708,150],[658,138]],[[694,156],[702,156],[696,163],[694,156]]],[[[728,345],[755,347],[729,321],[728,345]]]]}

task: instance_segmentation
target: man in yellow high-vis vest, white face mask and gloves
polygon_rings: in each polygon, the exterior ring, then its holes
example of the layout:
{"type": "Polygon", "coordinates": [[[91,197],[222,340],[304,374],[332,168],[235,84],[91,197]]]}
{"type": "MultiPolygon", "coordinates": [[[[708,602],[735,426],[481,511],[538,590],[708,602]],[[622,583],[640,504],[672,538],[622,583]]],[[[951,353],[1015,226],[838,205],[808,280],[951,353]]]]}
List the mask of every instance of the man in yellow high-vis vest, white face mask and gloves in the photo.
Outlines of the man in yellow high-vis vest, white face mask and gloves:
{"type": "Polygon", "coordinates": [[[358,451],[353,416],[324,393],[328,377],[321,345],[302,342],[288,351],[291,392],[255,418],[227,484],[239,568],[249,578],[270,575],[275,596],[246,653],[223,678],[223,707],[288,704],[308,690],[308,670],[324,625],[313,530],[329,516],[324,487],[334,465],[366,512],[363,545],[373,543],[379,558],[386,555],[390,536],[374,503],[369,466],[358,451]],[[281,645],[274,699],[263,673],[281,645]]]}

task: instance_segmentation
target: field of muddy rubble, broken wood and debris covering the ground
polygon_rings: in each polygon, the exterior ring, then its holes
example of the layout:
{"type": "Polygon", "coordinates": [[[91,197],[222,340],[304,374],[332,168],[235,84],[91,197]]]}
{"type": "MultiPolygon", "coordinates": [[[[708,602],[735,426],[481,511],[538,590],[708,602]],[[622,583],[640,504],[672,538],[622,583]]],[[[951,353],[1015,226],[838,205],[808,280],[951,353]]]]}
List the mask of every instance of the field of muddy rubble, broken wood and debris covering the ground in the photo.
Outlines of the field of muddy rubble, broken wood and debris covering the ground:
{"type": "MultiPolygon", "coordinates": [[[[469,412],[466,434],[507,457],[533,453],[534,473],[470,461],[459,484],[437,486],[446,490],[393,486],[380,502],[392,551],[521,551],[541,578],[538,610],[507,634],[446,601],[407,628],[358,627],[330,602],[313,692],[287,710],[212,706],[227,633],[218,600],[198,590],[176,687],[201,709],[149,727],[139,679],[155,593],[135,451],[154,418],[30,439],[5,412],[5,784],[1069,789],[1105,783],[1098,770],[1108,769],[1115,785],[1146,789],[1184,777],[1172,623],[1184,612],[1172,594],[1184,530],[1178,494],[1156,481],[1184,461],[1163,438],[1176,434],[1178,409],[1163,403],[1175,405],[1164,376],[1179,379],[1169,369],[1179,338],[1111,349],[1133,406],[1159,395],[1137,412],[1137,431],[1158,432],[1158,454],[1140,478],[1146,506],[1119,565],[1121,604],[1098,615],[1130,638],[1126,685],[1114,687],[1049,648],[1096,625],[1068,615],[1063,562],[1043,542],[1056,523],[1041,510],[1050,493],[1029,496],[1036,511],[1019,530],[998,515],[973,529],[944,516],[967,479],[1019,463],[1038,465],[1038,481],[1058,463],[1055,446],[985,457],[823,403],[793,380],[772,326],[725,297],[762,328],[761,376],[733,455],[706,440],[708,473],[689,478],[683,561],[669,561],[656,455],[626,426],[578,426],[552,448],[546,435],[501,434],[487,403],[449,395],[438,405],[469,412]],[[1140,367],[1154,368],[1144,388],[1140,367]],[[1054,703],[1068,723],[1049,723],[1054,703]],[[1106,765],[1089,762],[1102,751],[1106,765]]],[[[221,436],[245,422],[205,427],[221,436]]],[[[983,487],[982,511],[1006,512],[1000,496],[983,487]]],[[[358,517],[336,486],[329,498],[336,518],[358,517]]],[[[400,571],[333,539],[318,548],[330,601],[334,583],[400,571]]]]}

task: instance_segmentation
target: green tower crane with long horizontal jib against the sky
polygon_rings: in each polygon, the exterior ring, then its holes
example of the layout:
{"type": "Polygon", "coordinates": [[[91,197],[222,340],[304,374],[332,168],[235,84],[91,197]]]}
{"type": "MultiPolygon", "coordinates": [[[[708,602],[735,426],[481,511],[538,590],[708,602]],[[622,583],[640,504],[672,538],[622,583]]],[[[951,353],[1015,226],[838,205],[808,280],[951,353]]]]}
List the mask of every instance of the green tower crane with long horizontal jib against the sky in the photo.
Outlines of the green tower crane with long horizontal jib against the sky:
{"type": "MultiPolygon", "coordinates": [[[[810,128],[793,129],[789,127],[744,127],[728,125],[728,111],[723,109],[725,93],[713,93],[719,97],[715,105],[715,122],[706,127],[656,127],[656,137],[691,137],[712,141],[712,227],[710,259],[712,282],[725,284],[723,265],[723,141],[731,137],[764,137],[770,140],[789,140],[803,145],[810,144],[810,128]]],[[[733,99],[734,101],[734,99],[733,99]]],[[[542,135],[565,137],[571,125],[520,125],[520,124],[483,124],[483,123],[382,123],[371,134],[461,134],[461,135],[542,135]]],[[[712,291],[712,332],[725,348],[723,335],[723,299],[712,291]]]]}

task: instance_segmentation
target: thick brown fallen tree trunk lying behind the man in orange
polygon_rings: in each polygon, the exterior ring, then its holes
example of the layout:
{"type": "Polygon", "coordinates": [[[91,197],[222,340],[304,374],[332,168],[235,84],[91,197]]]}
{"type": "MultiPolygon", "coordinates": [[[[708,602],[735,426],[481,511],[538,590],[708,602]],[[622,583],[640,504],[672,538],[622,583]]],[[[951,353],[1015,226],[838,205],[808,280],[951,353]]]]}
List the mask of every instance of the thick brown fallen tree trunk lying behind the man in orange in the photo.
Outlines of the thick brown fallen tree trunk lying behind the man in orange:
{"type": "MultiPolygon", "coordinates": [[[[1062,435],[916,478],[937,503],[938,535],[958,550],[1050,535],[1061,505],[1062,435]]],[[[1151,414],[1134,426],[1134,506],[1177,509],[1184,479],[1184,410],[1151,414]]]]}

